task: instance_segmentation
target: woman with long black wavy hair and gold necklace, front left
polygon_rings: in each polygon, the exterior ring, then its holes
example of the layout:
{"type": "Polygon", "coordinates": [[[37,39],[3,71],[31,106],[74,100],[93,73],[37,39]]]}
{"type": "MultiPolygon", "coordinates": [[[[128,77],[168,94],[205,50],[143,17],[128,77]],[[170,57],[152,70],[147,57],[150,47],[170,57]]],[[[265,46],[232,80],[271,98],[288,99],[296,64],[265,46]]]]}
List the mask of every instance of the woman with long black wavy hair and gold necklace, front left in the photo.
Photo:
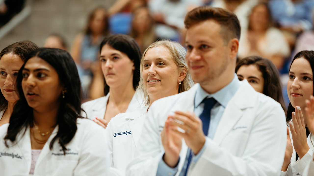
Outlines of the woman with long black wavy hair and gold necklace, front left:
{"type": "Polygon", "coordinates": [[[81,84],[68,52],[32,52],[17,90],[10,123],[0,128],[0,175],[107,175],[104,129],[80,116],[81,84]]]}

